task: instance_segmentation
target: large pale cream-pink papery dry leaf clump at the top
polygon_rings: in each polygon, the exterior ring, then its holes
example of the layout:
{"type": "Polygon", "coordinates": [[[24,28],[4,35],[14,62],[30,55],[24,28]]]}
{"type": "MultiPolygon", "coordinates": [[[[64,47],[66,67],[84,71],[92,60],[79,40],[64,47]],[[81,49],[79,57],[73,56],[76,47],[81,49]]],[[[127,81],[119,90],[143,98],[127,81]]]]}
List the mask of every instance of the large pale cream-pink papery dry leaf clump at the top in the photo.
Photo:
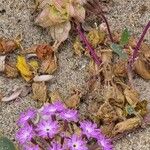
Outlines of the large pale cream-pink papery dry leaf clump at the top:
{"type": "MultiPolygon", "coordinates": [[[[85,19],[84,2],[81,1],[39,1],[42,12],[36,23],[44,28],[49,27],[52,38],[59,44],[68,38],[71,29],[71,18],[83,22],[85,19]]],[[[59,45],[58,44],[58,45],[59,45]]]]}

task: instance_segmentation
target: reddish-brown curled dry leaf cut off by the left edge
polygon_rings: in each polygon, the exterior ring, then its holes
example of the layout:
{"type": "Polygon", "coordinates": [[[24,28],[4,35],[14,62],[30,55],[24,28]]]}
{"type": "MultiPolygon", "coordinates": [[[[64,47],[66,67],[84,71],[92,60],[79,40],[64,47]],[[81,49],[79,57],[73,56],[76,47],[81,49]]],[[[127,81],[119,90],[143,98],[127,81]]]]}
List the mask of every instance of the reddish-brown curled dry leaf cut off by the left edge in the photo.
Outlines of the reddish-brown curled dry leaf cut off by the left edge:
{"type": "Polygon", "coordinates": [[[18,45],[14,40],[0,38],[0,55],[13,52],[17,48],[18,45]]]}

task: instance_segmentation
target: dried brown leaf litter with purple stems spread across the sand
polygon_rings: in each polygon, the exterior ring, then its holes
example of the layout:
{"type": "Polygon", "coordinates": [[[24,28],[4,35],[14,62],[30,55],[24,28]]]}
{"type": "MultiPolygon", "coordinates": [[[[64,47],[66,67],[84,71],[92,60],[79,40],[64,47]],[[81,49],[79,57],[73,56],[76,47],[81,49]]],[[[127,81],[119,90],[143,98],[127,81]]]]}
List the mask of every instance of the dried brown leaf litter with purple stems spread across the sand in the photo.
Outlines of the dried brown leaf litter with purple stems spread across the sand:
{"type": "MultiPolygon", "coordinates": [[[[106,136],[115,137],[142,126],[143,122],[148,124],[148,100],[141,100],[132,77],[137,73],[145,80],[150,79],[150,45],[143,42],[150,23],[137,41],[127,28],[122,33],[111,32],[99,3],[95,5],[97,0],[87,3],[82,0],[62,1],[59,4],[47,0],[37,2],[40,14],[35,22],[49,29],[54,44],[23,49],[20,40],[1,38],[0,72],[10,78],[20,75],[30,84],[32,98],[41,103],[61,99],[66,107],[79,109],[82,102],[86,103],[87,113],[81,117],[98,123],[106,136]],[[106,25],[84,31],[86,10],[101,16],[106,25]],[[52,74],[58,69],[57,49],[69,37],[69,32],[73,32],[72,29],[78,34],[74,38],[74,53],[89,58],[89,79],[85,91],[75,89],[64,99],[58,91],[50,92],[46,82],[52,80],[52,74]],[[15,53],[16,49],[19,49],[19,55],[15,53]],[[16,61],[6,62],[11,53],[15,53],[16,61]]],[[[22,89],[16,89],[1,101],[12,101],[21,93],[22,89]]]]}

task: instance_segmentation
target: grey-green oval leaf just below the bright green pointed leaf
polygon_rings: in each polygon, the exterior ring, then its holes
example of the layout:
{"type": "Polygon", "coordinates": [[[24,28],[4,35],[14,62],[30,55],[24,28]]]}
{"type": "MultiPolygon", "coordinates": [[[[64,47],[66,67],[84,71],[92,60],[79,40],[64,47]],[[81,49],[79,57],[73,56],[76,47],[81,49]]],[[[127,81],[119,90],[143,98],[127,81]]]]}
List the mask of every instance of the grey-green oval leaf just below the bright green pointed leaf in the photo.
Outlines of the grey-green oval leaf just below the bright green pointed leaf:
{"type": "Polygon", "coordinates": [[[115,52],[116,54],[119,55],[120,58],[122,58],[122,59],[128,58],[128,55],[123,51],[123,48],[120,45],[111,44],[110,47],[113,50],[113,52],[115,52]]]}

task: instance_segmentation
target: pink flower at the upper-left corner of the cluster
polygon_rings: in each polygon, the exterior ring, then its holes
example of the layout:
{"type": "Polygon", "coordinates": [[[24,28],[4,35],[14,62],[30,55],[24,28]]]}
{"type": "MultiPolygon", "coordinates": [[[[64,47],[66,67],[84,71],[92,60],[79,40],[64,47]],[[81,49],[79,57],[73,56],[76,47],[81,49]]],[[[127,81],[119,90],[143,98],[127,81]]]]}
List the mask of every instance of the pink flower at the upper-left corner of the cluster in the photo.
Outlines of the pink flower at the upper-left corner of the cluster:
{"type": "Polygon", "coordinates": [[[29,120],[33,119],[36,116],[36,110],[33,108],[27,109],[25,112],[22,112],[20,114],[20,117],[18,119],[18,126],[25,125],[28,123],[29,120]]]}

